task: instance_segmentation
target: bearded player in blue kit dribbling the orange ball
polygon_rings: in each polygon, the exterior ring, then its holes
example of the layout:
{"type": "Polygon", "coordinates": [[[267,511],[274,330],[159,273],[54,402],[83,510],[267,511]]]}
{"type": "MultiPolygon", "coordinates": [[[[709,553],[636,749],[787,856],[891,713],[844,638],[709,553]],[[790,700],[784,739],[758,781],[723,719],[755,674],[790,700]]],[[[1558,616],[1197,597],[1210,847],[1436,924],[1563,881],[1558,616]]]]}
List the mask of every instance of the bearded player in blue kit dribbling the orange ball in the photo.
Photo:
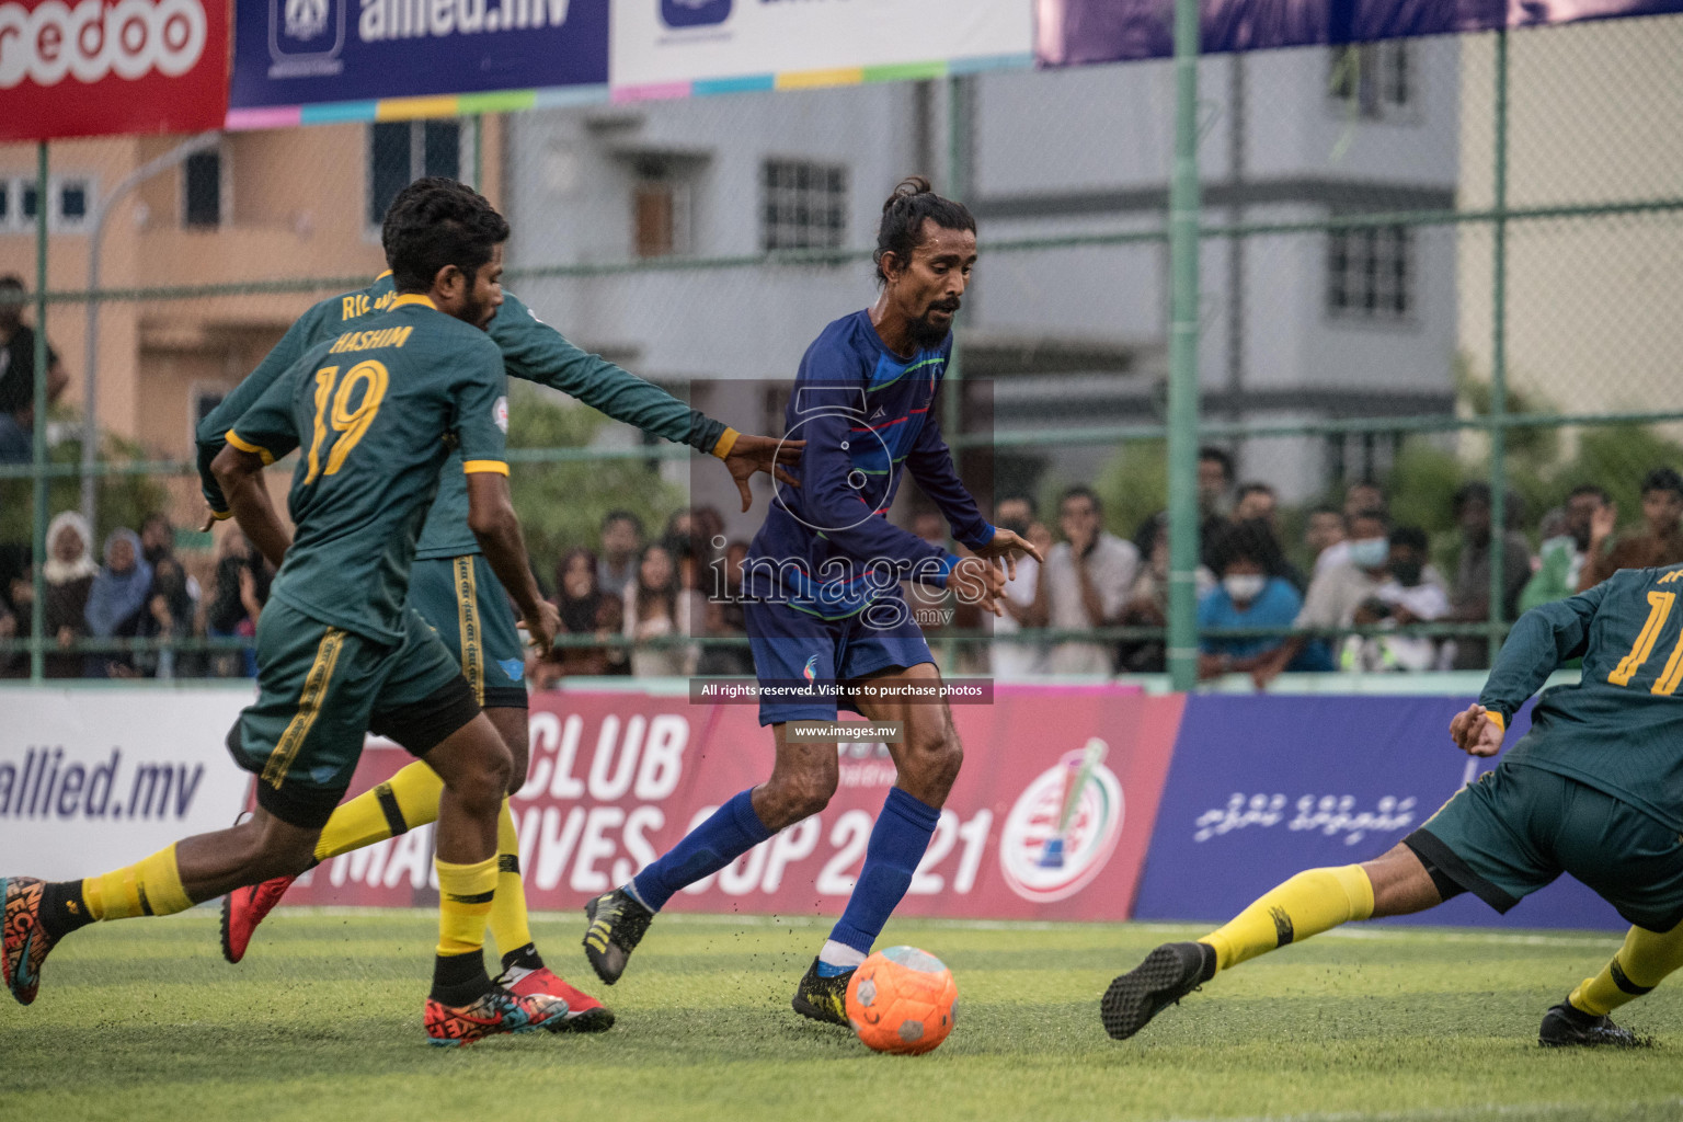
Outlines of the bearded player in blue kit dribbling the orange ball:
{"type": "MultiPolygon", "coordinates": [[[[956,592],[998,614],[1001,565],[1040,557],[1010,530],[988,525],[941,439],[934,402],[953,353],[953,316],[976,262],[976,222],[953,200],[909,178],[884,204],[877,230],[882,294],[836,320],[806,350],[786,415],[806,441],[801,490],[779,491],[744,562],[744,597],[761,688],[818,686],[767,700],[771,777],[737,794],[631,881],[586,905],[584,952],[608,984],[655,913],[685,885],[717,873],[779,829],[821,811],[836,789],[836,738],[806,737],[791,722],[833,722],[826,685],[867,686],[842,707],[900,722],[890,744],[899,779],[872,829],[853,895],[796,987],[803,1016],[847,1024],[843,996],[870,954],[929,846],[963,750],[944,700],[894,696],[939,686],[929,644],[900,582],[956,592]],[[954,557],[887,520],[907,471],[974,555],[954,557]]],[[[937,693],[937,691],[936,691],[937,693]]]]}

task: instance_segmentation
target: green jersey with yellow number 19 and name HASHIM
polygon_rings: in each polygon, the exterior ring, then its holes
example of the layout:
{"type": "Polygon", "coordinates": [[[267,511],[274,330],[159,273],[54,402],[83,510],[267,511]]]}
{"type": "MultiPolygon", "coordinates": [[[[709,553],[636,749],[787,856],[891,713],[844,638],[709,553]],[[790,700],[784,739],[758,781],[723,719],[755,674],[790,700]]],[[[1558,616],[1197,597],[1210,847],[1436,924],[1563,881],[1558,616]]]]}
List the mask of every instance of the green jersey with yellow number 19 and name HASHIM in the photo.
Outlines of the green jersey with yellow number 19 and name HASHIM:
{"type": "MultiPolygon", "coordinates": [[[[426,296],[303,353],[227,431],[266,461],[301,449],[296,532],[269,595],[333,627],[404,639],[416,540],[439,469],[508,474],[503,357],[426,296]]],[[[466,481],[463,481],[466,491],[466,481]]],[[[463,515],[466,523],[466,515],[463,515]]]]}

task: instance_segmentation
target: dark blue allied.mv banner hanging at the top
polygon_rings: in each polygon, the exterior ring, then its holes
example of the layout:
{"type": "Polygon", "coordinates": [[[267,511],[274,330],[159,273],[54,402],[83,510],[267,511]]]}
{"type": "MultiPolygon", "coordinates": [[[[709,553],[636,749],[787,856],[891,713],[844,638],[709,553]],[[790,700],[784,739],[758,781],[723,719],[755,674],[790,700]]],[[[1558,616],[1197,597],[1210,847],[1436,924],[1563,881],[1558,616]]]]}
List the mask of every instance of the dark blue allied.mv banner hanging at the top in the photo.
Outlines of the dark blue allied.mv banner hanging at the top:
{"type": "Polygon", "coordinates": [[[236,5],[236,119],[273,106],[608,82],[608,0],[236,5]]]}

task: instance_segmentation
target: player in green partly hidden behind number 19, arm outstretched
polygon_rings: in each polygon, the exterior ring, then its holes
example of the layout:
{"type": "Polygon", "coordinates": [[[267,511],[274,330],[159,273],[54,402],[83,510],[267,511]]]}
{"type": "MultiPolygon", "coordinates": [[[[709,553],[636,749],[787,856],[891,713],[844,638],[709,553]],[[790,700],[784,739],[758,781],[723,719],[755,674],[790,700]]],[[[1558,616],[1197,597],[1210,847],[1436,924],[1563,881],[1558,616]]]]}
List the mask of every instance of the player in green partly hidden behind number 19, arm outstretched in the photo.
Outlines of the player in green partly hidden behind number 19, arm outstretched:
{"type": "MultiPolygon", "coordinates": [[[[397,193],[390,214],[399,214],[411,198],[434,192],[473,195],[470,187],[456,180],[421,178],[397,193]]],[[[396,299],[397,289],[392,273],[387,271],[360,293],[320,301],[298,318],[257,368],[205,417],[197,434],[199,474],[212,516],[222,518],[227,511],[227,501],[210,471],[210,463],[226,446],[231,426],[306,348],[345,331],[365,328],[385,315],[396,299]]],[[[502,306],[485,330],[502,352],[503,370],[510,377],[549,385],[616,421],[717,456],[735,479],[742,510],[749,505],[751,476],[757,471],[774,471],[779,456],[786,463],[799,456],[798,442],[739,434],[724,422],[690,409],[658,385],[597,355],[587,355],[539,320],[512,293],[503,293],[502,306]]],[[[503,419],[507,421],[507,414],[503,419]]],[[[507,740],[513,754],[508,789],[518,791],[525,784],[528,755],[522,643],[513,612],[508,611],[508,595],[468,528],[465,479],[461,458],[456,454],[439,474],[438,496],[421,530],[409,582],[409,606],[444,639],[461,664],[475,698],[507,740]]],[[[315,860],[325,861],[434,821],[441,791],[443,782],[426,762],[409,764],[333,812],[316,841],[315,860]]],[[[614,1018],[609,1009],[549,971],[537,952],[520,880],[520,844],[507,801],[498,821],[498,861],[490,929],[502,954],[508,989],[522,996],[550,994],[565,1001],[565,1018],[552,1023],[557,1031],[601,1031],[613,1026],[614,1018]]],[[[222,905],[222,955],[229,962],[244,957],[257,925],[281,902],[293,880],[279,876],[227,895],[222,905]]]]}

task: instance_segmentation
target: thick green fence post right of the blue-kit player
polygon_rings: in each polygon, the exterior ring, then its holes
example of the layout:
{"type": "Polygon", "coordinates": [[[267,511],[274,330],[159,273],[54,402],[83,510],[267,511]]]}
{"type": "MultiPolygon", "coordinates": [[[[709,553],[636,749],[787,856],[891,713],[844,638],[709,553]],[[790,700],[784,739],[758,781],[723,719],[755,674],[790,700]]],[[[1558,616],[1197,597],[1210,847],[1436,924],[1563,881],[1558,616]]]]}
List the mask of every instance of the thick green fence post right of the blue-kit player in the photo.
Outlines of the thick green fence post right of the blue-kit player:
{"type": "Polygon", "coordinates": [[[1175,0],[1168,325],[1168,675],[1198,681],[1198,0],[1175,0]]]}

